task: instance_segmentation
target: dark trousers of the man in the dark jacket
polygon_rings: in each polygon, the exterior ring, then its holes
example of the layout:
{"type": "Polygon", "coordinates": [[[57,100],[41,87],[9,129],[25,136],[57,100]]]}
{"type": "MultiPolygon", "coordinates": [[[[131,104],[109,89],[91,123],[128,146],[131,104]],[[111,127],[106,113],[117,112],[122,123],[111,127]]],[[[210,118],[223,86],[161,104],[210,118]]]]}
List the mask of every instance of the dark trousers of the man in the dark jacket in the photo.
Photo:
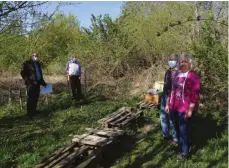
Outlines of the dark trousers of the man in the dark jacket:
{"type": "Polygon", "coordinates": [[[27,87],[27,115],[33,117],[36,114],[37,102],[40,95],[39,84],[29,84],[27,87]]]}

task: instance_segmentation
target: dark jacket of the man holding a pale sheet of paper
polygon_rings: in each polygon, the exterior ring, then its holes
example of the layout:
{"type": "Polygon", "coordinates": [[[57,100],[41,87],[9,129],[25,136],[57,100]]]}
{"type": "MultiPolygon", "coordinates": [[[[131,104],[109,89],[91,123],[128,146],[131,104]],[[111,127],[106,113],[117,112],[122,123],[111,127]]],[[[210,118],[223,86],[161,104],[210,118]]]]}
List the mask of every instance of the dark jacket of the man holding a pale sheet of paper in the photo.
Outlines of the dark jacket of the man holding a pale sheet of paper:
{"type": "Polygon", "coordinates": [[[39,84],[39,85],[46,86],[46,83],[43,79],[40,63],[37,62],[37,65],[41,74],[41,79],[39,81],[36,78],[36,69],[35,69],[34,61],[32,59],[27,60],[22,64],[21,76],[25,80],[26,85],[39,84]]]}

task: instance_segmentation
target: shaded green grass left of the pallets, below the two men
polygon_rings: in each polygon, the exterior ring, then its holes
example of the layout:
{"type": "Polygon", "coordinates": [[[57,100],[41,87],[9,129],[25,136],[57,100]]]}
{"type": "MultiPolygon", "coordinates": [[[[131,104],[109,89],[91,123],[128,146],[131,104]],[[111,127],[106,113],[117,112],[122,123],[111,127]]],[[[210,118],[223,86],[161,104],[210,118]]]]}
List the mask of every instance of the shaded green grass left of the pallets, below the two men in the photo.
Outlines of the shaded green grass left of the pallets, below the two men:
{"type": "Polygon", "coordinates": [[[66,93],[54,96],[49,105],[39,102],[39,114],[26,120],[19,106],[0,107],[0,167],[33,167],[42,158],[71,142],[85,127],[96,127],[97,120],[127,105],[123,102],[94,101],[75,105],[66,93]]]}

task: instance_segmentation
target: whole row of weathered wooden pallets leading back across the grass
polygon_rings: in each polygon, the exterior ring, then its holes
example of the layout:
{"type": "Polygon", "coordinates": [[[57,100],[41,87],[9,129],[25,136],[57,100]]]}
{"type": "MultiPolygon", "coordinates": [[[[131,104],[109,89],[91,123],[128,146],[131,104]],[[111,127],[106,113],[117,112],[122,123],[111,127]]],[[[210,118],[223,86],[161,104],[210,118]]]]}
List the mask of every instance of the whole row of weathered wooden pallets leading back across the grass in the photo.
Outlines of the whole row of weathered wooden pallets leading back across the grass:
{"type": "Polygon", "coordinates": [[[116,143],[119,137],[125,134],[120,128],[135,121],[142,114],[143,112],[136,108],[119,109],[99,120],[100,128],[87,128],[88,133],[75,135],[70,146],[44,159],[36,168],[85,168],[93,165],[105,148],[109,148],[109,145],[116,143]]]}

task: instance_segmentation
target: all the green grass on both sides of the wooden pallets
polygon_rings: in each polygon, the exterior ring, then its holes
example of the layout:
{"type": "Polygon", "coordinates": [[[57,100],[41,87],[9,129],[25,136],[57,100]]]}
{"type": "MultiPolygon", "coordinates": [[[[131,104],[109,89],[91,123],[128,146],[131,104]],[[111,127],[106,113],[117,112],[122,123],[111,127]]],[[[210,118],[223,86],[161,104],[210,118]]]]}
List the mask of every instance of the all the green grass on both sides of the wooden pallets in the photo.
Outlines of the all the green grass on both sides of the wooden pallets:
{"type": "MultiPolygon", "coordinates": [[[[96,127],[97,120],[122,106],[132,106],[138,100],[96,101],[82,106],[72,103],[66,93],[54,95],[49,105],[39,102],[39,114],[27,121],[25,110],[18,105],[0,106],[0,167],[33,167],[44,157],[71,143],[73,135],[85,127],[96,127]]],[[[218,115],[199,114],[192,121],[193,155],[186,162],[177,161],[176,147],[161,137],[158,110],[146,110],[144,125],[154,130],[142,139],[127,137],[122,147],[116,148],[117,158],[109,167],[227,167],[227,130],[218,115]]],[[[142,134],[144,127],[138,128],[142,134]]]]}

